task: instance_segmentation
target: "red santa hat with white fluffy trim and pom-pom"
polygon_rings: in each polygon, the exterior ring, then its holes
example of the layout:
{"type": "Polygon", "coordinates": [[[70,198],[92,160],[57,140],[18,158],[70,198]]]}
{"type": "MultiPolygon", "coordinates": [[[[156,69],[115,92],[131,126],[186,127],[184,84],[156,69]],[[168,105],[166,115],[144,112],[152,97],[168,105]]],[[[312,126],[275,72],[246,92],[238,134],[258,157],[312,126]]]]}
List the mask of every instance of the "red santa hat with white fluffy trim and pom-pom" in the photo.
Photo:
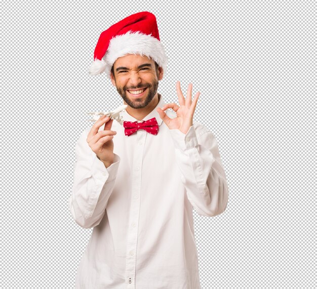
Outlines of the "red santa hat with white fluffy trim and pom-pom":
{"type": "Polygon", "coordinates": [[[166,72],[168,58],[152,13],[145,11],[130,15],[103,31],[95,48],[89,74],[106,72],[110,78],[115,60],[127,54],[150,57],[166,72]]]}

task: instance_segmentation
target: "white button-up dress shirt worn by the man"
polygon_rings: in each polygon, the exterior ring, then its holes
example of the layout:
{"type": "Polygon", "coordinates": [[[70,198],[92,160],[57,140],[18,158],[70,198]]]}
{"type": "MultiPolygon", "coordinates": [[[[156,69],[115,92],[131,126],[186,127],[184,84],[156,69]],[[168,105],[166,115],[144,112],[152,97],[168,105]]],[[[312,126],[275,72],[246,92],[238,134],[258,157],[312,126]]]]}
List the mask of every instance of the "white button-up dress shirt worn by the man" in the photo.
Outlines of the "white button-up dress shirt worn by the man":
{"type": "Polygon", "coordinates": [[[224,212],[226,176],[214,135],[196,121],[187,134],[170,130],[156,111],[165,104],[158,95],[143,118],[156,118],[157,135],[140,129],[125,136],[113,120],[114,162],[107,169],[87,143],[91,127],[76,143],[68,205],[75,222],[93,231],[75,288],[201,288],[192,210],[224,212]]]}

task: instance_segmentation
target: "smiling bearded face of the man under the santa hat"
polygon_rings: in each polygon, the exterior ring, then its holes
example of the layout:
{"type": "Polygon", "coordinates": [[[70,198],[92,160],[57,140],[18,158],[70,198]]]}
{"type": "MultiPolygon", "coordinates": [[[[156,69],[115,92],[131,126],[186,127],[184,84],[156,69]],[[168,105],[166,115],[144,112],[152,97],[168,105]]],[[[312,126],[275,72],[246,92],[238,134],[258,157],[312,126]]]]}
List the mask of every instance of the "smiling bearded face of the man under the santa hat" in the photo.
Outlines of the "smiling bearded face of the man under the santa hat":
{"type": "Polygon", "coordinates": [[[144,108],[151,103],[162,78],[162,67],[156,68],[147,56],[134,54],[117,58],[110,75],[118,94],[132,108],[144,108]]]}

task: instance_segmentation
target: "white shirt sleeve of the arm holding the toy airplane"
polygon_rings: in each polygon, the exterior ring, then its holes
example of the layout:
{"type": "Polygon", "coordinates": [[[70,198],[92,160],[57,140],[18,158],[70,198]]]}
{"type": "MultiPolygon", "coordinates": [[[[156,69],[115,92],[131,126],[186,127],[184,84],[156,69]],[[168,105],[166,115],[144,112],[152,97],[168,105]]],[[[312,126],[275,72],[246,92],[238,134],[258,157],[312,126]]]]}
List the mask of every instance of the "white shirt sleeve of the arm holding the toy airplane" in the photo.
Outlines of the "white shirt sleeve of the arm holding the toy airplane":
{"type": "Polygon", "coordinates": [[[68,198],[73,219],[86,229],[102,220],[120,164],[120,156],[114,154],[113,163],[106,168],[90,148],[87,136],[85,130],[76,143],[72,192],[68,198]]]}

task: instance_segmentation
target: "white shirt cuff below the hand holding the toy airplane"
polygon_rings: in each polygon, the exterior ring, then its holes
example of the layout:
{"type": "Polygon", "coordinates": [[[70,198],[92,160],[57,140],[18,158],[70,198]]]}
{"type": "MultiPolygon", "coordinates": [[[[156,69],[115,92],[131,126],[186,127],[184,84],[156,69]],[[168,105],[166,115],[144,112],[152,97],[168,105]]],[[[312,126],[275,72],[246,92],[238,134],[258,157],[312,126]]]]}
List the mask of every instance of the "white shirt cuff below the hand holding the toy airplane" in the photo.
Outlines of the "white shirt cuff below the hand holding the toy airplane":
{"type": "Polygon", "coordinates": [[[107,182],[115,179],[121,158],[115,153],[113,153],[113,155],[113,163],[106,168],[104,163],[95,154],[91,168],[92,174],[105,177],[107,182]]]}

